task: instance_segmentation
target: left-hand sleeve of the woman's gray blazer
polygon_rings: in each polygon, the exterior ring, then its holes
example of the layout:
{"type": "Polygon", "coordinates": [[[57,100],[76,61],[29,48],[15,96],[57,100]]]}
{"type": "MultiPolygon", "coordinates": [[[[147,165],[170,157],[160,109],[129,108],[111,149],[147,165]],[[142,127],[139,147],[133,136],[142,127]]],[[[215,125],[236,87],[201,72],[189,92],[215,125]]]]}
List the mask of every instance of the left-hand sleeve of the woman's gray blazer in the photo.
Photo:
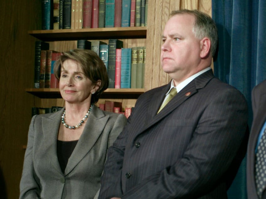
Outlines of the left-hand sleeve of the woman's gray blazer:
{"type": "Polygon", "coordinates": [[[37,115],[33,116],[28,133],[28,143],[24,156],[22,177],[20,180],[19,199],[40,198],[39,179],[35,174],[33,166],[33,144],[34,144],[34,122],[37,115]]]}

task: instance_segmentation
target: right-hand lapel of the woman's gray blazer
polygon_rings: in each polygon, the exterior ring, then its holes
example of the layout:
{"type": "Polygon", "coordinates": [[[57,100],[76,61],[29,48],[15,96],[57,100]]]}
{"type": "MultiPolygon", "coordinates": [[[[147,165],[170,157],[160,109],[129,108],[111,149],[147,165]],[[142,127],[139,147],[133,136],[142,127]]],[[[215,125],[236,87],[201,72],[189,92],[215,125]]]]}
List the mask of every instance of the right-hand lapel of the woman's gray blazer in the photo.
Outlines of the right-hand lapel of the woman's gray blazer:
{"type": "Polygon", "coordinates": [[[92,149],[93,145],[101,135],[108,119],[109,115],[104,115],[98,107],[93,105],[82,135],[68,160],[65,175],[71,172],[82,158],[92,149]]]}

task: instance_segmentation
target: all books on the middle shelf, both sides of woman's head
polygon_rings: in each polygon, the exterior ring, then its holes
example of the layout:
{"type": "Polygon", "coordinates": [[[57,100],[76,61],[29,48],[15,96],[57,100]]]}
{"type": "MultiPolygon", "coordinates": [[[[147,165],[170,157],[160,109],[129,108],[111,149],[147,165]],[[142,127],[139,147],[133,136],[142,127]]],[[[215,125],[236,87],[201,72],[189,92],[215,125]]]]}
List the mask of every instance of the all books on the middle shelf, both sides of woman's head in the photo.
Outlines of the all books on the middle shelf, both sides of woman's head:
{"type": "MultiPolygon", "coordinates": [[[[123,48],[123,41],[77,40],[77,48],[90,49],[103,60],[109,77],[108,88],[144,88],[146,47],[123,48]]],[[[35,42],[34,88],[59,88],[54,63],[61,52],[49,50],[49,43],[35,42]]]]}

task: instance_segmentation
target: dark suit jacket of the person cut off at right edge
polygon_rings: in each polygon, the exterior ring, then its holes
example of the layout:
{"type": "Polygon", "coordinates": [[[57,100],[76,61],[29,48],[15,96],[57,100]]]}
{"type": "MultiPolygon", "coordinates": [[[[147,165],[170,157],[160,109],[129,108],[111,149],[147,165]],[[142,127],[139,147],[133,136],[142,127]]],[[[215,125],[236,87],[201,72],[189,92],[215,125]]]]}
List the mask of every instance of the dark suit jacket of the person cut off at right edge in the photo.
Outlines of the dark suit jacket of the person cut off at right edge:
{"type": "MultiPolygon", "coordinates": [[[[254,178],[255,148],[258,135],[266,120],[266,80],[258,84],[252,90],[253,124],[247,148],[247,195],[249,199],[257,199],[256,184],[254,178]]],[[[266,199],[264,190],[263,198],[266,199]]]]}

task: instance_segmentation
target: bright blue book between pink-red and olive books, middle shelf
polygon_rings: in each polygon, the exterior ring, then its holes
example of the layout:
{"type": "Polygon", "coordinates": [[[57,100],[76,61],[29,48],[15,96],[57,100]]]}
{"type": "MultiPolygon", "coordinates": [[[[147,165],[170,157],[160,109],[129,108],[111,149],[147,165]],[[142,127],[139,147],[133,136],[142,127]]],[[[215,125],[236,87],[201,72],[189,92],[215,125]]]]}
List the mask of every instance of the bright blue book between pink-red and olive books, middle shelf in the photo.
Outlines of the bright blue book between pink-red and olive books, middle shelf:
{"type": "Polygon", "coordinates": [[[131,48],[121,50],[121,83],[120,88],[130,88],[131,78],[131,48]]]}

